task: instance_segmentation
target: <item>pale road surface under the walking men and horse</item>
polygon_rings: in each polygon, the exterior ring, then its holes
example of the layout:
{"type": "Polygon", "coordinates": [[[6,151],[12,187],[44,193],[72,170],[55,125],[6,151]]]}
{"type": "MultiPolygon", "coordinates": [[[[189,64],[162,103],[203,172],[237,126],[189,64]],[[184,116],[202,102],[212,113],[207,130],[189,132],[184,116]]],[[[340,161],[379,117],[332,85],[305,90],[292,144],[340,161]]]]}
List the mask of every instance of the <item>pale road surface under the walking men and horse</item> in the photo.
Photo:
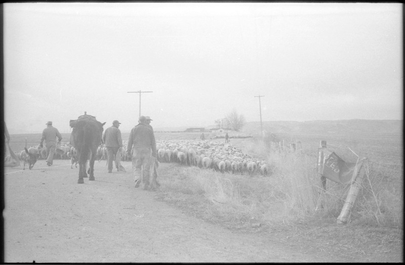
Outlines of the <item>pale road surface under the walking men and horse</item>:
{"type": "Polygon", "coordinates": [[[127,172],[77,184],[67,160],[5,169],[6,262],[327,262],[269,234],[242,234],[191,217],[134,188],[127,172]]]}

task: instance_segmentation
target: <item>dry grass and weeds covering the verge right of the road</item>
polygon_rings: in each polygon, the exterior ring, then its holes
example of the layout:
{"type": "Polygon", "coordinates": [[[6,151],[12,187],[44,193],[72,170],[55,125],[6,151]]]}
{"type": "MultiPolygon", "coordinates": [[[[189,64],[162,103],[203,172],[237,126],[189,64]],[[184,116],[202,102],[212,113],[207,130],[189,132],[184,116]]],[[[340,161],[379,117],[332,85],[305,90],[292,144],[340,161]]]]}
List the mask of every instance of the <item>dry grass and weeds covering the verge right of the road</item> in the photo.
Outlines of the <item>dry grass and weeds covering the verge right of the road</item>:
{"type": "MultiPolygon", "coordinates": [[[[166,164],[163,166],[169,168],[161,173],[163,185],[158,197],[229,229],[269,233],[293,249],[327,252],[350,262],[403,260],[400,161],[396,167],[391,163],[393,169],[368,163],[350,223],[338,225],[336,218],[349,186],[328,180],[327,190],[320,188],[316,146],[315,154],[307,154],[271,150],[255,139],[241,139],[238,145],[244,153],[265,158],[271,175],[219,173],[166,164]],[[252,228],[252,223],[261,227],[252,228]]],[[[306,143],[303,147],[309,148],[306,143]]]]}

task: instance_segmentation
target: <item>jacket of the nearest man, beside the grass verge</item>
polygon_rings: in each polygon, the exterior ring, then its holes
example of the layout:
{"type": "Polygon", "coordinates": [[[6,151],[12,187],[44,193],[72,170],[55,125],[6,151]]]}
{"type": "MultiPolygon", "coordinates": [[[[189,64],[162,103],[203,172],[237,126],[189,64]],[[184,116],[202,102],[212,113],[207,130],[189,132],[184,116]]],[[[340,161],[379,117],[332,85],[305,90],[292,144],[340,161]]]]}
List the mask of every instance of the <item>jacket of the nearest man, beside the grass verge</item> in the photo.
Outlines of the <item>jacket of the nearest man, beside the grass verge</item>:
{"type": "Polygon", "coordinates": [[[147,124],[139,123],[132,128],[128,139],[128,150],[134,148],[151,148],[152,154],[156,154],[156,141],[153,134],[153,129],[147,124]]]}

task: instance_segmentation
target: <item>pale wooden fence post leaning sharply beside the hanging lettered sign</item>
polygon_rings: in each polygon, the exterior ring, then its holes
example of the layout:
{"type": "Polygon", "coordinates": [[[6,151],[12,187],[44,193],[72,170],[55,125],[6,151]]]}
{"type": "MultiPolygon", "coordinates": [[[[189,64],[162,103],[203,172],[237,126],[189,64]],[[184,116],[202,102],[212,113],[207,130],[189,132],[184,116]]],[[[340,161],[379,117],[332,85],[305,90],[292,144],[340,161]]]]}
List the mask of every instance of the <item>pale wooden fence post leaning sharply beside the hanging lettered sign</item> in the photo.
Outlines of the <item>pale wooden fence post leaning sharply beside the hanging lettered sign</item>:
{"type": "Polygon", "coordinates": [[[349,193],[347,194],[345,204],[343,205],[342,211],[337,219],[338,224],[347,224],[351,215],[351,208],[356,201],[357,194],[361,189],[361,182],[363,181],[363,176],[365,175],[364,163],[367,162],[367,158],[362,158],[354,168],[351,185],[349,193]]]}

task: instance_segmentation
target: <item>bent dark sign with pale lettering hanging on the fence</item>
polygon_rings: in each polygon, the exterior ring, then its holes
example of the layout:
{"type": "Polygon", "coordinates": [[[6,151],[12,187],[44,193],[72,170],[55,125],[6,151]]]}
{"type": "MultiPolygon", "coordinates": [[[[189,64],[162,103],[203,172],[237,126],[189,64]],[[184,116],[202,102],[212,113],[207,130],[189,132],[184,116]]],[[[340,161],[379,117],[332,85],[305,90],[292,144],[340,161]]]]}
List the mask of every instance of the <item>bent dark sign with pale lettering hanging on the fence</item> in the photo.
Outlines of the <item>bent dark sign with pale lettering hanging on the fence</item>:
{"type": "Polygon", "coordinates": [[[345,162],[337,154],[326,148],[318,148],[318,173],[333,182],[350,183],[355,165],[355,163],[345,162]]]}

